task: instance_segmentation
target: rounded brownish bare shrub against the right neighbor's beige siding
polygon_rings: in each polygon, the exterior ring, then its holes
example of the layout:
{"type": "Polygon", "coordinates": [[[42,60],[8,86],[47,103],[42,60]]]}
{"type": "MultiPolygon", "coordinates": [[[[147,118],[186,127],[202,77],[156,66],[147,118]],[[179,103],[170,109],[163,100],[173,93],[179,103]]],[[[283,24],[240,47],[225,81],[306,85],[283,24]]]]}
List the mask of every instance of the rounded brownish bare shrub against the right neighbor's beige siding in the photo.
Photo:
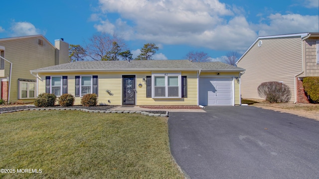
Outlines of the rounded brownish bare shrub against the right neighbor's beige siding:
{"type": "Polygon", "coordinates": [[[279,82],[264,82],[258,87],[258,94],[260,97],[273,102],[288,102],[291,98],[290,88],[279,82]]]}

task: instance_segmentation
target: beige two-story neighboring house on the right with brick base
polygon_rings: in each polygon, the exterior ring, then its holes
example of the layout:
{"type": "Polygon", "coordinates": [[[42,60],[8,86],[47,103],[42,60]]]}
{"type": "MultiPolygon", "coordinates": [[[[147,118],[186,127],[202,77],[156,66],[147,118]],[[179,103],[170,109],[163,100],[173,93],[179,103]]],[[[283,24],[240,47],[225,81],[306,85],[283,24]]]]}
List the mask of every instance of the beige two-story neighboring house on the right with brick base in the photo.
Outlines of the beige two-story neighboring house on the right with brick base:
{"type": "Polygon", "coordinates": [[[303,78],[319,77],[319,32],[258,37],[236,64],[246,69],[242,98],[260,99],[258,86],[276,81],[290,87],[291,101],[309,102],[303,78]]]}

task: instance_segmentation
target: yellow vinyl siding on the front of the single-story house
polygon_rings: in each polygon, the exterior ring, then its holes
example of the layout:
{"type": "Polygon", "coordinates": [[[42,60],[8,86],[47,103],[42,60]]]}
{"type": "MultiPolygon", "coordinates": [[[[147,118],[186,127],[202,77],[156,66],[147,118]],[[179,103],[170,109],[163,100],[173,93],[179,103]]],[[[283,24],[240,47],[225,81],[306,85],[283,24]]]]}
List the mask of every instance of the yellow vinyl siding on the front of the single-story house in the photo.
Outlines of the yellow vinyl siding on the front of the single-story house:
{"type": "MultiPolygon", "coordinates": [[[[164,73],[164,72],[163,72],[164,73]]],[[[45,77],[56,76],[54,73],[40,74],[38,80],[38,94],[45,92],[45,77]]],[[[75,95],[75,76],[97,75],[98,76],[98,103],[110,105],[122,105],[122,76],[136,76],[136,98],[137,105],[197,105],[197,73],[182,72],[182,76],[187,76],[187,97],[178,99],[153,99],[146,97],[146,83],[143,78],[151,76],[151,72],[101,72],[101,73],[61,73],[59,76],[68,76],[68,93],[75,95]],[[139,88],[139,84],[143,87],[139,88]],[[107,93],[110,90],[111,93],[107,93]],[[108,102],[110,101],[110,103],[108,102]]],[[[76,97],[75,104],[80,104],[81,97],[76,97]]]]}

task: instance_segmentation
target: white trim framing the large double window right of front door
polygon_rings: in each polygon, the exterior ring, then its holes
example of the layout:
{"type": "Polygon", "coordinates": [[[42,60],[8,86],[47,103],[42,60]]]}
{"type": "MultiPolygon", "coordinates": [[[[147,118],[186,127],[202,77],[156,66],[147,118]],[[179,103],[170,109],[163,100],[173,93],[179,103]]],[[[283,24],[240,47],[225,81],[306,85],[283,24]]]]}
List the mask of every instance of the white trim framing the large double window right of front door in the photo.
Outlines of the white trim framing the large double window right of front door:
{"type": "Polygon", "coordinates": [[[152,74],[152,98],[164,98],[164,99],[176,99],[181,98],[181,74],[180,73],[159,73],[152,74]],[[155,95],[155,77],[165,77],[165,97],[156,97],[155,95]],[[178,96],[168,97],[168,78],[167,77],[178,77],[178,96]]]}

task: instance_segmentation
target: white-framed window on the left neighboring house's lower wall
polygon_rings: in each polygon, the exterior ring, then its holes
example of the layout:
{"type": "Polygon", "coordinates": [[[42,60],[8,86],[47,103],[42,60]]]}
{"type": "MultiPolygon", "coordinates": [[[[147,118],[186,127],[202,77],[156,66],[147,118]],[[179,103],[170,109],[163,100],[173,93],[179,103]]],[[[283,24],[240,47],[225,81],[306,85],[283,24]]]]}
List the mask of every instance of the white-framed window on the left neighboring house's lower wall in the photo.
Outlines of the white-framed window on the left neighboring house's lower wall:
{"type": "Polygon", "coordinates": [[[19,81],[19,99],[35,98],[36,82],[34,80],[20,80],[19,81]]]}

